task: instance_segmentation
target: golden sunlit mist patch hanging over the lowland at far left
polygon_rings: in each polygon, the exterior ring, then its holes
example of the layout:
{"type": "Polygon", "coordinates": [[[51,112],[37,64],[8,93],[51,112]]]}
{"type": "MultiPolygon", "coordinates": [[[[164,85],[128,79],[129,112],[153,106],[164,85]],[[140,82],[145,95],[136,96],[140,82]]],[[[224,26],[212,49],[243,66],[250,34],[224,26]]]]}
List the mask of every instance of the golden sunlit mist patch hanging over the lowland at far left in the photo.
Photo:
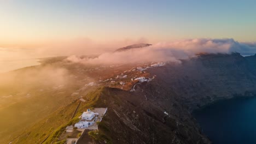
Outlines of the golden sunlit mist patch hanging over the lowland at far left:
{"type": "Polygon", "coordinates": [[[66,85],[71,80],[69,76],[70,73],[67,69],[53,67],[51,65],[11,71],[0,75],[0,89],[11,88],[15,92],[21,90],[28,91],[38,86],[40,88],[49,88],[66,85]]]}

